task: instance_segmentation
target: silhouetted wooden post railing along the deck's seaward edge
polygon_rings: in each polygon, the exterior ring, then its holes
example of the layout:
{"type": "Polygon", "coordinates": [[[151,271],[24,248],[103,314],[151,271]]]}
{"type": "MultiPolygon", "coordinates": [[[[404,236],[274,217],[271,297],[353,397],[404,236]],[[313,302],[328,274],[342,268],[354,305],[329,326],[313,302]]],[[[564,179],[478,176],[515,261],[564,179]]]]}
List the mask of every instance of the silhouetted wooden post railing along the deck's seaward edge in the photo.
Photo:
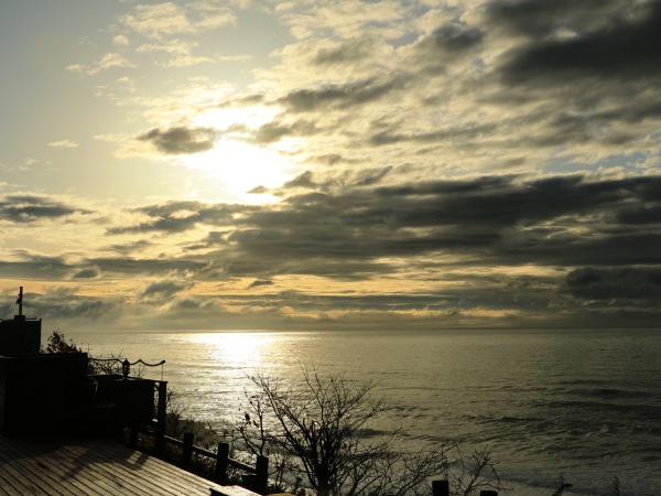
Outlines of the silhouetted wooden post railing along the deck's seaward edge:
{"type": "Polygon", "coordinates": [[[156,418],[151,422],[151,428],[144,425],[131,427],[129,434],[129,445],[136,448],[138,445],[138,434],[145,434],[154,438],[154,452],[158,456],[163,455],[165,443],[181,448],[182,456],[180,465],[182,468],[189,471],[193,465],[193,453],[206,456],[215,461],[214,481],[218,484],[226,484],[227,470],[234,466],[249,474],[243,477],[243,482],[249,485],[250,489],[259,494],[267,494],[267,484],[269,478],[269,459],[268,456],[258,456],[256,466],[248,465],[229,457],[229,444],[218,443],[217,451],[205,450],[195,445],[194,434],[192,432],[184,433],[184,439],[178,440],[165,434],[165,421],[167,414],[167,381],[153,380],[155,391],[158,392],[156,418]]]}

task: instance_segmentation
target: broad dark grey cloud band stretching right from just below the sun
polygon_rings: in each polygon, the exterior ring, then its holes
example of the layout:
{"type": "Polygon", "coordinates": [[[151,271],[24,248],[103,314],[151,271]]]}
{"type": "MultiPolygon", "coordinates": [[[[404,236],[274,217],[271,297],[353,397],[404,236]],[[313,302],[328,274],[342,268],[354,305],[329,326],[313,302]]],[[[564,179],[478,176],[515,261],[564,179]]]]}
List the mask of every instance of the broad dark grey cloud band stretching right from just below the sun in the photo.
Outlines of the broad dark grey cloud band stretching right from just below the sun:
{"type": "MultiPolygon", "coordinates": [[[[310,173],[295,185],[311,190],[316,182],[310,173]]],[[[449,256],[465,266],[650,265],[661,262],[660,204],[661,176],[484,176],[313,191],[277,206],[163,204],[141,209],[153,222],[110,233],[206,226],[212,233],[189,247],[197,255],[173,267],[219,262],[215,273],[263,280],[278,273],[370,279],[397,270],[381,261],[392,257],[449,256]],[[183,208],[195,215],[173,215],[183,208]]]]}

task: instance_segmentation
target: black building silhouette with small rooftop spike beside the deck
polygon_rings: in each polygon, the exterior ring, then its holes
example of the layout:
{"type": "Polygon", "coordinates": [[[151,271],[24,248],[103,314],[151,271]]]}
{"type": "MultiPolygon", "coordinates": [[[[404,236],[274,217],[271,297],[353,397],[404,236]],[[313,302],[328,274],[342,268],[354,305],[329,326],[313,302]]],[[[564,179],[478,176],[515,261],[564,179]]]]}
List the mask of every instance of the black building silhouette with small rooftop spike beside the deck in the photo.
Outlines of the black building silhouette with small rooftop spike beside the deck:
{"type": "Polygon", "coordinates": [[[152,421],[153,381],[90,376],[87,353],[41,353],[42,321],[23,315],[22,287],[17,304],[19,314],[0,321],[0,435],[117,432],[152,421]]]}

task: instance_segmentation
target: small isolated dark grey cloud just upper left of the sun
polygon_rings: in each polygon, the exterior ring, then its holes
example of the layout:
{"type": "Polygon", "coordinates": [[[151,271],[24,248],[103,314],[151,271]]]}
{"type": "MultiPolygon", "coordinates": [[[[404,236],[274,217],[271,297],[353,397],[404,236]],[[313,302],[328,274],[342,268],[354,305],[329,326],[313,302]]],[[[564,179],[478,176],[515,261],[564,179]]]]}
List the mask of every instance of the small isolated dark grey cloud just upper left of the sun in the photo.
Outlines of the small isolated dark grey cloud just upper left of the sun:
{"type": "Polygon", "coordinates": [[[210,128],[176,127],[166,130],[152,129],[139,134],[138,141],[153,144],[166,155],[201,153],[214,148],[216,131],[210,128]]]}

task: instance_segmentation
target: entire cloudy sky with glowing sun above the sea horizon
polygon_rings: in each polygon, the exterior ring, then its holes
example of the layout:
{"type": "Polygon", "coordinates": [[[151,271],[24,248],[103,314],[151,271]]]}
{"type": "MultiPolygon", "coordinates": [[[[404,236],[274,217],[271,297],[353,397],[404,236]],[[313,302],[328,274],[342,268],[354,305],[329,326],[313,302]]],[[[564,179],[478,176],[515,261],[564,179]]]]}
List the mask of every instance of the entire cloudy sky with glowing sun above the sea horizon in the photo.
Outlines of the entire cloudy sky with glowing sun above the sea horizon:
{"type": "Polygon", "coordinates": [[[650,326],[660,0],[0,4],[0,317],[650,326]]]}

